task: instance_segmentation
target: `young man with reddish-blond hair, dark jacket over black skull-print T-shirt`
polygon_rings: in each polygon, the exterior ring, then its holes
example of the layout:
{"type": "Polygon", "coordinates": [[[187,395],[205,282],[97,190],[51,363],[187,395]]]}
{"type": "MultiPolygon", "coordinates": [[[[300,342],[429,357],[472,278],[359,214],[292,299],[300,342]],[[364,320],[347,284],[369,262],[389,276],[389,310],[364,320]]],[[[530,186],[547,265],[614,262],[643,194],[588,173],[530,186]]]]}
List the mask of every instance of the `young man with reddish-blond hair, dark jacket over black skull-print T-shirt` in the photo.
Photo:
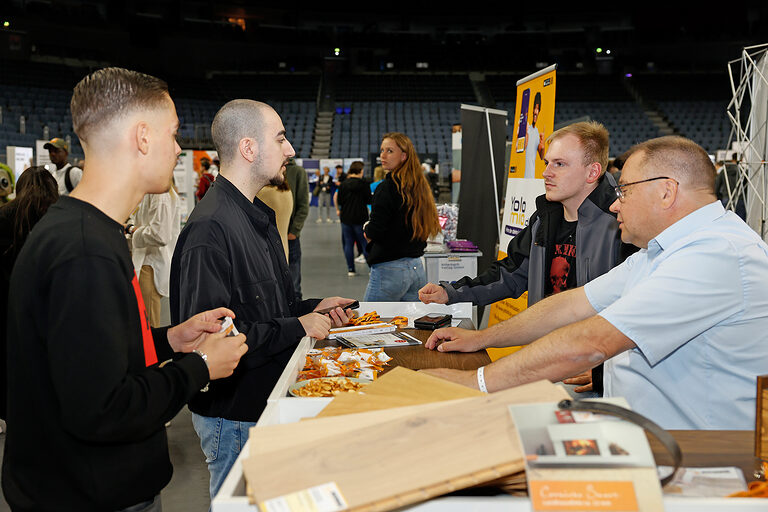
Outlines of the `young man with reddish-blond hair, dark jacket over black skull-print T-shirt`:
{"type": "MultiPolygon", "coordinates": [[[[604,172],[608,141],[608,131],[596,122],[554,132],[545,155],[546,193],[536,199],[536,212],[509,243],[507,256],[475,278],[429,283],[419,291],[420,299],[485,305],[527,291],[531,306],[553,293],[583,286],[621,263],[633,248],[621,243],[616,215],[609,211],[616,183],[604,172]]],[[[595,387],[602,389],[599,382],[595,387]]]]}

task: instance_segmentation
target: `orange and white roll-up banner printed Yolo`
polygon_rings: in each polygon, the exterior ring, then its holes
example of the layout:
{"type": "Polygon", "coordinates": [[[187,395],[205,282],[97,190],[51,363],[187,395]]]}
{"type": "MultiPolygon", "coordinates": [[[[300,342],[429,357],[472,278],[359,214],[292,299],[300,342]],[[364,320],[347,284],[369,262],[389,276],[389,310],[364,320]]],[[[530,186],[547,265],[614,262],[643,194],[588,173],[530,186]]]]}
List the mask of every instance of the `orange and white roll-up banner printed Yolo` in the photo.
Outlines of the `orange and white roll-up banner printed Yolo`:
{"type": "MultiPolygon", "coordinates": [[[[544,141],[555,126],[555,70],[556,65],[542,69],[517,82],[515,103],[516,126],[509,154],[509,174],[504,211],[499,233],[498,259],[507,256],[509,242],[528,225],[536,211],[536,197],[544,193],[542,173],[544,141]]],[[[488,325],[495,325],[528,307],[528,292],[517,299],[494,303],[488,316],[488,325]]],[[[495,361],[518,350],[491,348],[488,355],[495,361]]]]}

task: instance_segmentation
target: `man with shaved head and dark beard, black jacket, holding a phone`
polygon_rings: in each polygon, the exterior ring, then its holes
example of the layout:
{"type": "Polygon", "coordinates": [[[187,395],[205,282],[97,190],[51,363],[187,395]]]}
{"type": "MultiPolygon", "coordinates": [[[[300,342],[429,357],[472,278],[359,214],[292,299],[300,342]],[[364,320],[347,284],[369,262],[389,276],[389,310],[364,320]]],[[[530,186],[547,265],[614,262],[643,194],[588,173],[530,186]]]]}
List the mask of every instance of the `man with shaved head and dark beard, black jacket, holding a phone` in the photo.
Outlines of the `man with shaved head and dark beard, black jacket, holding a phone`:
{"type": "Polygon", "coordinates": [[[299,340],[323,339],[332,321],[339,327],[351,317],[338,307],[330,319],[315,311],[351,301],[296,300],[275,213],[256,198],[267,184],[283,183],[295,154],[277,112],[257,101],[232,100],[216,113],[211,135],[221,167],[176,243],[171,318],[224,304],[246,335],[248,353],[234,375],[189,403],[213,498],[299,340]]]}

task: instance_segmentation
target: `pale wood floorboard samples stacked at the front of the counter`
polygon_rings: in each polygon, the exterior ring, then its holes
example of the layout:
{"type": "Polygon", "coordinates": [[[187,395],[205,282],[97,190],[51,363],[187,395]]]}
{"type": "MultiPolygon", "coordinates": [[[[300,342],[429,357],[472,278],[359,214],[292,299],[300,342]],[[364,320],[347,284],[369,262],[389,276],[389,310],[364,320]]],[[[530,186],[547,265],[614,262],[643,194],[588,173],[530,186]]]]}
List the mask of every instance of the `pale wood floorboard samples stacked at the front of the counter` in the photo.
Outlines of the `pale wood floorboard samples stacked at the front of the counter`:
{"type": "MultiPolygon", "coordinates": [[[[391,510],[522,471],[523,452],[507,405],[567,397],[561,387],[542,381],[418,407],[322,440],[316,422],[301,422],[293,427],[291,446],[259,449],[243,462],[243,471],[258,502],[334,482],[352,509],[391,510]]],[[[354,424],[355,416],[338,420],[354,424]]],[[[253,446],[265,445],[260,430],[251,433],[253,446]]]]}

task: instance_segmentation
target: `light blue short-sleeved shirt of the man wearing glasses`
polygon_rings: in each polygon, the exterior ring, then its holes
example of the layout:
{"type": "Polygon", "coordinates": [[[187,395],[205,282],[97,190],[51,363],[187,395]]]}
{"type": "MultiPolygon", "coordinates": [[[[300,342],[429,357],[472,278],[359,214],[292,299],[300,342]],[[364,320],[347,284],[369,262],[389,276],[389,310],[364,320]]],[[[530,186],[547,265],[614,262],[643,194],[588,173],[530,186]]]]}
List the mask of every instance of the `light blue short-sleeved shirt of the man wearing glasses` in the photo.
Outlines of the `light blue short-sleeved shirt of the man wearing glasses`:
{"type": "Polygon", "coordinates": [[[667,429],[755,427],[768,374],[768,245],[719,201],[585,286],[637,348],[605,363],[605,396],[667,429]]]}

